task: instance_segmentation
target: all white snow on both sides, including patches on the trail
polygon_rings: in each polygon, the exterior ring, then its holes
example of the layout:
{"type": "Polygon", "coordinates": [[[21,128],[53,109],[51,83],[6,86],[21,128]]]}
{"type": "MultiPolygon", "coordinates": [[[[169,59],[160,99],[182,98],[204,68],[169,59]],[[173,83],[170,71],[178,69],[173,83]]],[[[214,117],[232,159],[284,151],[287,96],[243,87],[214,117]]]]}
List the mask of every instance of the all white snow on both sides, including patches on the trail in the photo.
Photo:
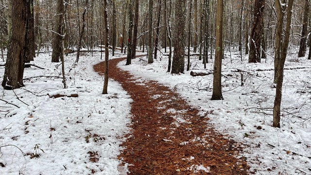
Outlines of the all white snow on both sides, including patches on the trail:
{"type": "MultiPolygon", "coordinates": [[[[242,143],[240,157],[246,158],[250,172],[255,175],[305,175],[311,174],[311,63],[306,57],[297,58],[297,50],[292,48],[285,62],[281,128],[272,127],[275,85],[274,60],[270,56],[254,64],[247,63],[247,55],[241,61],[239,52],[231,51],[231,64],[230,54],[226,52],[222,69],[225,100],[222,101],[210,100],[212,74],[190,76],[191,70],[212,72],[211,59],[204,70],[202,61],[191,56],[190,71],[178,75],[166,72],[168,56],[165,55],[160,55],[162,61],[155,60],[153,64],[134,59],[132,65],[124,66],[125,62],[121,62],[119,67],[133,73],[138,84],[143,85],[146,79],[155,80],[176,90],[200,110],[202,117],[210,118],[218,132],[242,143]]],[[[273,55],[271,51],[268,53],[273,55]]],[[[126,174],[127,166],[131,165],[121,166],[118,155],[123,149],[120,144],[130,133],[132,100],[112,79],[108,94],[101,94],[103,77],[92,68],[102,61],[99,54],[85,53],[70,72],[75,54],[65,57],[69,89],[62,88],[59,63],[51,63],[49,54],[40,54],[34,61],[46,69],[25,69],[24,77],[30,78],[24,81],[25,87],[14,91],[0,87],[0,99],[14,104],[0,101],[0,166],[4,166],[0,167],[1,175],[126,174]],[[31,78],[38,75],[53,77],[31,78]],[[49,97],[57,93],[65,96],[49,97]],[[72,93],[78,97],[69,97],[72,93]]],[[[3,73],[4,67],[0,67],[1,77],[3,73]]],[[[182,113],[173,108],[167,112],[182,113]]],[[[188,122],[177,114],[175,118],[176,125],[188,122]]],[[[193,173],[209,172],[209,167],[201,164],[186,168],[193,173]]]]}

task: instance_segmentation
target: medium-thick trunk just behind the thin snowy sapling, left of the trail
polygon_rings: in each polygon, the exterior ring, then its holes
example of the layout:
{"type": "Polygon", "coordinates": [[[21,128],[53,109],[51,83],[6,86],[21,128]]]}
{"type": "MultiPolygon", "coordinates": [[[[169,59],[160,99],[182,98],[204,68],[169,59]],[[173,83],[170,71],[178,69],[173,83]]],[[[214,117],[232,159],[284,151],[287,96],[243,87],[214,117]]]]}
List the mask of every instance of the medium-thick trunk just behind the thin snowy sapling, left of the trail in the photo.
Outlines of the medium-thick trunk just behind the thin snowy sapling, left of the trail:
{"type": "Polygon", "coordinates": [[[52,43],[52,62],[59,62],[60,54],[61,54],[61,40],[62,40],[62,25],[63,25],[63,16],[64,14],[64,0],[57,0],[56,4],[56,13],[55,17],[55,27],[54,27],[54,40],[52,43]]]}

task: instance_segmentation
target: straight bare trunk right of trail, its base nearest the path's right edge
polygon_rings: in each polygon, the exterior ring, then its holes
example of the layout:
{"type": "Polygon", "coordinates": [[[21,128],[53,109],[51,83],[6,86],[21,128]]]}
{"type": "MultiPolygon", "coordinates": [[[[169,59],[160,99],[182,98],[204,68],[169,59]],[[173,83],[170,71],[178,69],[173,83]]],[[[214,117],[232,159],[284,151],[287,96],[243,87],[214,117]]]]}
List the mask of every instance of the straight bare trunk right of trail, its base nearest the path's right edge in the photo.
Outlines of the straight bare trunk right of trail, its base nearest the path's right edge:
{"type": "Polygon", "coordinates": [[[211,100],[223,100],[222,93],[222,58],[223,58],[223,13],[224,0],[217,0],[216,7],[216,43],[213,77],[213,94],[211,100]]]}

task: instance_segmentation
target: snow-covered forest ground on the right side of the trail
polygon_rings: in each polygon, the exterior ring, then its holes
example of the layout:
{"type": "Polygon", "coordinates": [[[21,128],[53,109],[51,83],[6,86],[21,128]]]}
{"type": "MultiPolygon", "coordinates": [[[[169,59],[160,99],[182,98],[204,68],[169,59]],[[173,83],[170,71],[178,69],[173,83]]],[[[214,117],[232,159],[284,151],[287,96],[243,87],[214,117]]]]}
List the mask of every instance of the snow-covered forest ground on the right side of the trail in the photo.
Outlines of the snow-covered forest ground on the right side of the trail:
{"type": "Polygon", "coordinates": [[[310,175],[311,61],[296,55],[296,52],[290,53],[285,63],[281,128],[272,127],[276,89],[274,60],[270,56],[262,59],[262,63],[250,64],[247,55],[243,55],[241,61],[237,51],[231,55],[226,52],[222,69],[225,100],[222,101],[210,100],[212,74],[190,76],[191,70],[212,72],[211,59],[204,70],[198,56],[191,56],[190,71],[180,75],[166,72],[168,56],[163,55],[153,64],[148,65],[147,58],[141,57],[145,61],[135,59],[130,66],[123,66],[125,62],[119,66],[139,78],[156,80],[176,89],[190,105],[197,106],[211,119],[215,129],[244,143],[241,156],[247,159],[250,171],[256,175],[310,175]],[[241,86],[241,74],[244,86],[241,86]]]}

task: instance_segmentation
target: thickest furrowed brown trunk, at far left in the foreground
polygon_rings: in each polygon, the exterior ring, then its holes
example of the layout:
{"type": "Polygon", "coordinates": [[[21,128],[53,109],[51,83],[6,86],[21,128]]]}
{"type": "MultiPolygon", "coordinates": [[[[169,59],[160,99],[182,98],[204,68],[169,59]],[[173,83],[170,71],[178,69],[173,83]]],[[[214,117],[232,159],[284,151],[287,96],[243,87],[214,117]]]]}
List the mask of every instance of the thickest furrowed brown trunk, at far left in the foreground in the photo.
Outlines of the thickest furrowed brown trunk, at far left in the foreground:
{"type": "Polygon", "coordinates": [[[11,11],[8,13],[12,17],[12,27],[9,33],[9,44],[7,59],[5,63],[2,87],[4,89],[14,89],[23,87],[24,75],[24,54],[28,13],[27,0],[12,0],[11,11]]]}

